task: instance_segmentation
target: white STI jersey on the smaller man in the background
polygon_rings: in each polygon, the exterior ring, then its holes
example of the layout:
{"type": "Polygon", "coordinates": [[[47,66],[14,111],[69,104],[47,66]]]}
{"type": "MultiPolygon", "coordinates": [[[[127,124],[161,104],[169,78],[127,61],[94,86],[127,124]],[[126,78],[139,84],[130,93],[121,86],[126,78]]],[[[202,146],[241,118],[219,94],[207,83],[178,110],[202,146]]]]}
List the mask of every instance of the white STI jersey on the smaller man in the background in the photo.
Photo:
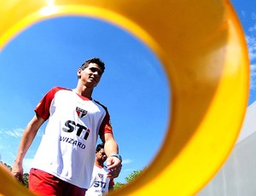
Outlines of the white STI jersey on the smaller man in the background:
{"type": "Polygon", "coordinates": [[[94,165],[92,177],[90,181],[90,187],[86,191],[86,196],[102,196],[108,193],[109,184],[113,186],[113,180],[107,177],[108,170],[107,167],[103,168],[94,165]]]}

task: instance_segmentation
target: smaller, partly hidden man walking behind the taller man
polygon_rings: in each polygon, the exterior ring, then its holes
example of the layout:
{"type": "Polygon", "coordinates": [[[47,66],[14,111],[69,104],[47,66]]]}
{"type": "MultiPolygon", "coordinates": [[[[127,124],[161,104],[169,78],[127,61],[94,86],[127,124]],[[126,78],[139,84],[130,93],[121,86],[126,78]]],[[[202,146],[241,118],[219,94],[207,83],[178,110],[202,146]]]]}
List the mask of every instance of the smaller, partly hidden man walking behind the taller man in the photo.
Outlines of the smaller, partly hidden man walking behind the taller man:
{"type": "Polygon", "coordinates": [[[90,187],[86,191],[86,196],[102,196],[113,189],[113,178],[108,177],[108,169],[104,165],[107,155],[104,152],[104,144],[96,147],[96,159],[90,181],[90,187]]]}

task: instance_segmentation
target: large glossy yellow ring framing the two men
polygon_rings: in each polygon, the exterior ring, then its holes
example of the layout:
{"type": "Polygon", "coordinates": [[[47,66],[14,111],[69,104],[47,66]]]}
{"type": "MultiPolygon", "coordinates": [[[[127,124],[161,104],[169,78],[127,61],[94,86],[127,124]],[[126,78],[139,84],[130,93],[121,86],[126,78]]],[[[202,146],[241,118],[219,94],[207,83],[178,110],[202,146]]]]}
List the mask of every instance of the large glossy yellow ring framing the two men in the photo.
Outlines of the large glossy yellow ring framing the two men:
{"type": "MultiPolygon", "coordinates": [[[[246,42],[227,1],[3,0],[0,13],[0,49],[38,20],[79,14],[125,28],[158,55],[172,86],[170,125],[160,153],[122,195],[195,194],[227,159],[249,89],[246,42]]],[[[5,170],[0,183],[0,194],[29,195],[5,170]]]]}

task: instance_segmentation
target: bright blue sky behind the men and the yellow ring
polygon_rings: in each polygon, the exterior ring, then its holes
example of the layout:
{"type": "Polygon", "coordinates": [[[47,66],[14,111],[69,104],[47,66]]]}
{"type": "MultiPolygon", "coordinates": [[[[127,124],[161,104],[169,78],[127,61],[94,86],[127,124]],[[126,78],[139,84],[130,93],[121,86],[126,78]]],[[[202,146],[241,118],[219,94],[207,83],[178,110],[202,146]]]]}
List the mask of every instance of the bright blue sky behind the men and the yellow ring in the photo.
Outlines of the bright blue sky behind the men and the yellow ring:
{"type": "MultiPolygon", "coordinates": [[[[256,100],[256,2],[231,1],[251,61],[248,105],[256,100]]],[[[0,53],[0,160],[13,165],[20,136],[38,101],[54,86],[75,88],[77,69],[90,57],[106,64],[93,98],[108,107],[123,168],[115,182],[143,170],[158,152],[170,117],[166,74],[157,56],[130,33],[106,21],[58,17],[30,26],[0,53]]],[[[24,159],[28,172],[44,126],[24,159]]]]}

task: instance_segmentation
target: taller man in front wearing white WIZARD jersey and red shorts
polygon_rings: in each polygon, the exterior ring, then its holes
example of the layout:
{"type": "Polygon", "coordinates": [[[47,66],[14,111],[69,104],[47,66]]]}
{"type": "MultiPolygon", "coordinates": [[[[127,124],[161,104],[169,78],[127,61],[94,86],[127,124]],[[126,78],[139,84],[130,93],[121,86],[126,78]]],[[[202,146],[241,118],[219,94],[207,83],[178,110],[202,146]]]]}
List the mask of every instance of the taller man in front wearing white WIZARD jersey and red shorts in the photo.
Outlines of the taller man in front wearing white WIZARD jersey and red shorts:
{"type": "Polygon", "coordinates": [[[75,89],[55,87],[35,108],[20,141],[12,174],[22,179],[22,161],[38,129],[48,124],[29,176],[29,188],[40,195],[83,195],[90,186],[99,135],[108,155],[108,176],[119,176],[121,158],[107,107],[91,97],[100,82],[105,65],[98,58],[79,68],[75,89]]]}

